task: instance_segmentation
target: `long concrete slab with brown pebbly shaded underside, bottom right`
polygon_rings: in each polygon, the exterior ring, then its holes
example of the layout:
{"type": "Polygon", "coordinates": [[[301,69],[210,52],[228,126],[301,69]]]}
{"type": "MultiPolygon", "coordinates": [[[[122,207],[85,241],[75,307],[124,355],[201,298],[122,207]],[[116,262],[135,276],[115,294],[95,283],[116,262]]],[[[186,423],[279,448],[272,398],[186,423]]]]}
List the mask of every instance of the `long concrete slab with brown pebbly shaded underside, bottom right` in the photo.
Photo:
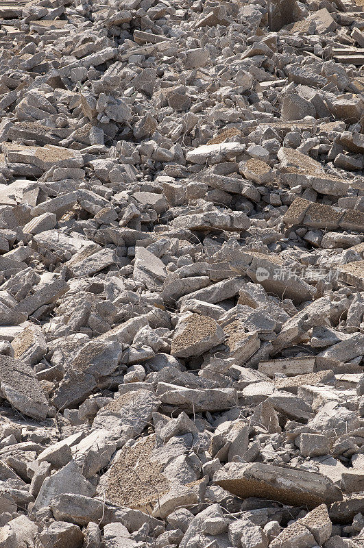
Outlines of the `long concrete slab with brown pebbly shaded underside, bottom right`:
{"type": "Polygon", "coordinates": [[[342,500],[339,488],[323,475],[289,466],[229,462],[213,480],[242,499],[262,497],[292,506],[306,504],[308,508],[342,500]]]}

